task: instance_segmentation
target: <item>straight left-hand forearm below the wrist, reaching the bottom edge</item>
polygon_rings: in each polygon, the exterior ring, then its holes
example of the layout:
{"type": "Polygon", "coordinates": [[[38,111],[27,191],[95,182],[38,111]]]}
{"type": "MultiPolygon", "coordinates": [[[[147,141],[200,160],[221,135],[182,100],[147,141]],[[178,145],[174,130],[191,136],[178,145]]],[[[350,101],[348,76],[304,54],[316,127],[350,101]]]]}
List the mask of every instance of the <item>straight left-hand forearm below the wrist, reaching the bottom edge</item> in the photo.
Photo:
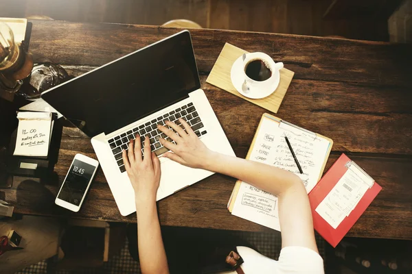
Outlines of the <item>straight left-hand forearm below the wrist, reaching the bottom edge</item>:
{"type": "Polygon", "coordinates": [[[141,273],[169,273],[155,199],[137,199],[137,238],[141,273]]]}

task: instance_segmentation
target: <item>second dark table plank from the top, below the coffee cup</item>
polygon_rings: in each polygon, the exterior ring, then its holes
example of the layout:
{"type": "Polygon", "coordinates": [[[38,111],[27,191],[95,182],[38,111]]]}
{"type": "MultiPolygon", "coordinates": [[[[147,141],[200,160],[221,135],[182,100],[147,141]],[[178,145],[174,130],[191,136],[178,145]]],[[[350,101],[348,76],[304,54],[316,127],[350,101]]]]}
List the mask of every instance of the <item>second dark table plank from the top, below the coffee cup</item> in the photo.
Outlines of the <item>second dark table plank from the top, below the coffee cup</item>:
{"type": "MultiPolygon", "coordinates": [[[[94,66],[65,68],[80,75],[94,66]]],[[[201,86],[231,145],[249,145],[267,110],[207,84],[206,78],[201,75],[201,86]]],[[[275,115],[332,138],[334,151],[412,154],[412,92],[406,88],[293,79],[275,115]]]]}

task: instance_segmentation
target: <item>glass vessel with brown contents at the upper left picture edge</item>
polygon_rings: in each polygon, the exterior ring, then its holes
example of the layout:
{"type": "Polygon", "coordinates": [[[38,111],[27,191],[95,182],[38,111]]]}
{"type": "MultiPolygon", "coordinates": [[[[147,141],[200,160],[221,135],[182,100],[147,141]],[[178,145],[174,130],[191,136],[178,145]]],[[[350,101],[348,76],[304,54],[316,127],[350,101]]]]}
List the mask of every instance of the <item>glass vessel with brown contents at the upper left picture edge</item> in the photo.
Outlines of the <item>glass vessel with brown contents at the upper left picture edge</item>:
{"type": "Polygon", "coordinates": [[[10,27],[0,22],[0,89],[16,92],[32,69],[32,55],[14,41],[10,27]]]}

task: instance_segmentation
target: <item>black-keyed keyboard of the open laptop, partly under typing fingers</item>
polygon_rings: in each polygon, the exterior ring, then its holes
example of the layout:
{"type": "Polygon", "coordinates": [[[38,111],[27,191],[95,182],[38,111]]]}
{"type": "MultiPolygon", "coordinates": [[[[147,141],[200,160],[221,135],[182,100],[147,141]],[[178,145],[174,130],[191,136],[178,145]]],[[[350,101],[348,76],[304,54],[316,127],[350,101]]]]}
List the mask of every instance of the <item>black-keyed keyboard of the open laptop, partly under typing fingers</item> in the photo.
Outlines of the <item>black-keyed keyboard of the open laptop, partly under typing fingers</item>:
{"type": "MultiPolygon", "coordinates": [[[[126,171],[124,167],[123,158],[122,158],[122,151],[123,149],[128,152],[128,143],[131,139],[136,138],[136,134],[140,135],[140,142],[141,142],[141,153],[144,155],[144,138],[148,136],[150,140],[150,148],[157,156],[169,151],[166,147],[163,147],[159,142],[159,138],[164,138],[172,143],[175,143],[174,140],[170,139],[166,134],[161,132],[157,129],[157,125],[165,125],[165,121],[171,121],[179,125],[184,131],[186,131],[185,127],[180,123],[179,118],[185,120],[190,127],[192,127],[194,133],[201,137],[207,134],[205,127],[201,121],[201,117],[199,117],[198,113],[196,112],[196,108],[194,108],[193,103],[188,103],[187,105],[183,105],[180,108],[176,108],[176,110],[172,110],[171,112],[165,112],[161,116],[157,117],[157,119],[152,119],[152,121],[146,122],[144,124],[138,125],[134,129],[129,129],[128,131],[115,136],[115,138],[111,138],[108,140],[108,145],[110,145],[113,156],[117,162],[117,166],[119,166],[120,172],[126,171]]],[[[166,127],[168,127],[166,125],[166,127]]],[[[172,129],[169,127],[169,129],[172,129]]]]}

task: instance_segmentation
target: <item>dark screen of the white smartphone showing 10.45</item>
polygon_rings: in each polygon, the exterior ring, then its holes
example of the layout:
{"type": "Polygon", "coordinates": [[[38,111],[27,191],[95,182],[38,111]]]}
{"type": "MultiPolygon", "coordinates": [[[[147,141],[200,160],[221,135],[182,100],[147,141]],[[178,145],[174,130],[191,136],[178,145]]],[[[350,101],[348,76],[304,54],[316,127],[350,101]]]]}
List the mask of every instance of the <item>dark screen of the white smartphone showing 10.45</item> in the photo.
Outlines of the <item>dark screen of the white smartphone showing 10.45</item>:
{"type": "Polygon", "coordinates": [[[91,164],[75,159],[63,182],[58,199],[79,206],[95,168],[91,164]]]}

